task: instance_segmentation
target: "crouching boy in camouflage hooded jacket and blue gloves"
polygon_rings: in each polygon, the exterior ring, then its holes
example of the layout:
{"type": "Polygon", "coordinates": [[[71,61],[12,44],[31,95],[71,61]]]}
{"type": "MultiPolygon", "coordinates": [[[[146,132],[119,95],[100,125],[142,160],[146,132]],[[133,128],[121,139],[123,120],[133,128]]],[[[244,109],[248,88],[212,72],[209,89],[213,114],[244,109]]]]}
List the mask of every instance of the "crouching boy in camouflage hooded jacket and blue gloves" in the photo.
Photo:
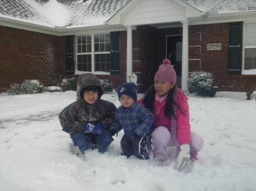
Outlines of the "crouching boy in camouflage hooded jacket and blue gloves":
{"type": "Polygon", "coordinates": [[[96,75],[81,74],[77,81],[77,101],[59,114],[63,131],[70,134],[74,146],[78,146],[82,153],[89,148],[105,152],[114,140],[109,128],[117,108],[102,100],[103,94],[104,88],[96,75]]]}

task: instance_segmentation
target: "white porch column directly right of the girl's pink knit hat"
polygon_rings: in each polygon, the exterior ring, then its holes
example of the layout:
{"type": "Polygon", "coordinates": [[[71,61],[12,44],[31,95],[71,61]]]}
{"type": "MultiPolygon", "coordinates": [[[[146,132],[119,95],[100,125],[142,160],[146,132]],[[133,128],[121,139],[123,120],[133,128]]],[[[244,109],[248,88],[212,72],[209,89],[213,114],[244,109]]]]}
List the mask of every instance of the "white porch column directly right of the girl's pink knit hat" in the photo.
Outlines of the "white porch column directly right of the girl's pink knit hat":
{"type": "Polygon", "coordinates": [[[181,90],[188,91],[188,20],[181,21],[182,32],[182,69],[181,69],[181,90]]]}

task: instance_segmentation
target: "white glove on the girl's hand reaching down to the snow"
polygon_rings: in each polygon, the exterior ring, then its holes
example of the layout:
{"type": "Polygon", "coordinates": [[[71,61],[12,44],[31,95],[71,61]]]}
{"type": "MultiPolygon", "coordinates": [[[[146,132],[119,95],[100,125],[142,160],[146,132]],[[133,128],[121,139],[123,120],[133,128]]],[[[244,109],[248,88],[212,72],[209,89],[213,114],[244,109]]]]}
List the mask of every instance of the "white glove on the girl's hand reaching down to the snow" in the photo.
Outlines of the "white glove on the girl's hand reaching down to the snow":
{"type": "Polygon", "coordinates": [[[184,144],[180,146],[180,154],[178,156],[178,171],[182,171],[184,168],[188,167],[190,163],[190,145],[184,144]]]}

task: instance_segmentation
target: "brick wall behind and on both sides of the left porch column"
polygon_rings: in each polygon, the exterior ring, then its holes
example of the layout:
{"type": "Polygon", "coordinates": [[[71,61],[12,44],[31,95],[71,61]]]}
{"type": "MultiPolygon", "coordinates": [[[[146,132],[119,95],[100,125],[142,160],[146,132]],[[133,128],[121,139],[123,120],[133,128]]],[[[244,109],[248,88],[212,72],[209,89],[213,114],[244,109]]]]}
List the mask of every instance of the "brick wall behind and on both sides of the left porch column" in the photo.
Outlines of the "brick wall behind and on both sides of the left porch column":
{"type": "MultiPolygon", "coordinates": [[[[133,73],[138,77],[138,92],[145,92],[154,83],[157,58],[157,30],[150,26],[138,26],[133,30],[133,73]]],[[[110,79],[116,89],[126,82],[127,32],[120,33],[120,74],[97,75],[110,79]]]]}

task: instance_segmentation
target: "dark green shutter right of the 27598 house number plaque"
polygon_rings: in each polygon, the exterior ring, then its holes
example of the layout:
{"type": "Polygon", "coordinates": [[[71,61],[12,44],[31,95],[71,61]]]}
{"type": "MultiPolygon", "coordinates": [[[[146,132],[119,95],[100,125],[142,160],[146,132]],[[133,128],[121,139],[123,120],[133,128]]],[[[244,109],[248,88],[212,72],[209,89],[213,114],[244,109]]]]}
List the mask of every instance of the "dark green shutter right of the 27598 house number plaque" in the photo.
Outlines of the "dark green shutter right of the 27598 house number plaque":
{"type": "Polygon", "coordinates": [[[242,22],[229,23],[228,74],[241,74],[242,22]]]}

